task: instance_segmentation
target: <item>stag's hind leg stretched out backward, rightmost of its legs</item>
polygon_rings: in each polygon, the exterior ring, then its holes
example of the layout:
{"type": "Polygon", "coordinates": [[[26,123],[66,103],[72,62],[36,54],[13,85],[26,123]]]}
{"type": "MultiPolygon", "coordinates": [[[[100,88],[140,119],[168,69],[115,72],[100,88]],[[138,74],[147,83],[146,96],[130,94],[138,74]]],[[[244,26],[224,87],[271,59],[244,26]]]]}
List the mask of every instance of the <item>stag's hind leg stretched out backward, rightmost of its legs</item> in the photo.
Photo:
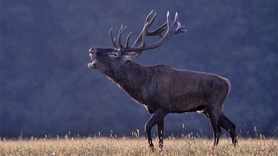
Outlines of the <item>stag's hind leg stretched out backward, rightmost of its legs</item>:
{"type": "Polygon", "coordinates": [[[236,124],[234,124],[234,122],[228,119],[226,115],[223,113],[223,111],[221,111],[219,115],[219,122],[220,122],[220,126],[223,127],[226,131],[228,131],[228,133],[232,138],[232,143],[234,144],[234,146],[236,146],[238,143],[237,140],[238,135],[236,134],[236,124]]]}

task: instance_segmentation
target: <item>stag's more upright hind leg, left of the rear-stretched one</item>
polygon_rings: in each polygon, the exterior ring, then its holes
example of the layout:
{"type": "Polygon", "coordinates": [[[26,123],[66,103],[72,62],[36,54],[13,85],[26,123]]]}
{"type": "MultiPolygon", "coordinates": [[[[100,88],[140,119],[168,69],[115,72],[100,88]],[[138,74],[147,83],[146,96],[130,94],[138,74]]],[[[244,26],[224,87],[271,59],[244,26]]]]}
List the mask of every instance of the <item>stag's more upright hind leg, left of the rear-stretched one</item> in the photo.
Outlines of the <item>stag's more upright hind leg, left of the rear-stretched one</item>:
{"type": "Polygon", "coordinates": [[[213,135],[214,135],[214,146],[218,145],[219,138],[222,134],[221,128],[220,128],[220,122],[219,122],[219,112],[220,110],[216,107],[209,107],[207,108],[207,117],[210,119],[210,123],[213,129],[213,135]]]}

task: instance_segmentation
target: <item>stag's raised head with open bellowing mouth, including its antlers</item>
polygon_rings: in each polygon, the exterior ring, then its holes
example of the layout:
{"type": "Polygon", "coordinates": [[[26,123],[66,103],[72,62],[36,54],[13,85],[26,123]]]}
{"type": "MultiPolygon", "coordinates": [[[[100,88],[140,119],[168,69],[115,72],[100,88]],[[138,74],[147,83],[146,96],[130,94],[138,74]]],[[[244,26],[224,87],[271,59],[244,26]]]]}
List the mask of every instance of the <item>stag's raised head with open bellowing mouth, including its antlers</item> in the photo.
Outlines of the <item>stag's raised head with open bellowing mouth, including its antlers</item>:
{"type": "Polygon", "coordinates": [[[128,35],[126,39],[126,45],[122,45],[122,33],[126,29],[126,27],[121,27],[120,31],[118,32],[118,45],[116,44],[116,38],[113,38],[112,35],[112,29],[110,29],[110,39],[112,42],[112,45],[114,49],[111,48],[96,48],[92,47],[89,49],[89,55],[91,59],[93,60],[92,63],[89,63],[89,68],[94,68],[98,70],[99,72],[102,72],[103,74],[106,74],[109,76],[111,71],[113,70],[113,67],[115,66],[122,66],[127,61],[137,58],[142,51],[147,49],[154,49],[161,45],[163,45],[165,42],[167,42],[174,34],[183,33],[187,30],[181,30],[184,26],[181,26],[181,24],[178,22],[178,14],[175,15],[174,22],[171,21],[169,11],[167,13],[167,21],[157,28],[154,31],[148,31],[148,28],[152,25],[154,22],[154,19],[156,17],[156,13],[154,14],[152,20],[150,20],[150,16],[153,13],[153,11],[150,12],[150,14],[146,18],[146,22],[144,24],[143,30],[134,42],[132,46],[129,46],[129,38],[132,32],[128,35]],[[164,28],[167,25],[167,28],[164,28]],[[176,27],[177,26],[177,27],[176,27]],[[167,32],[165,35],[162,34],[164,30],[167,29],[167,32]],[[146,37],[147,36],[161,36],[162,39],[160,41],[148,45],[146,43],[146,37]],[[141,45],[139,45],[141,43],[141,45]]]}

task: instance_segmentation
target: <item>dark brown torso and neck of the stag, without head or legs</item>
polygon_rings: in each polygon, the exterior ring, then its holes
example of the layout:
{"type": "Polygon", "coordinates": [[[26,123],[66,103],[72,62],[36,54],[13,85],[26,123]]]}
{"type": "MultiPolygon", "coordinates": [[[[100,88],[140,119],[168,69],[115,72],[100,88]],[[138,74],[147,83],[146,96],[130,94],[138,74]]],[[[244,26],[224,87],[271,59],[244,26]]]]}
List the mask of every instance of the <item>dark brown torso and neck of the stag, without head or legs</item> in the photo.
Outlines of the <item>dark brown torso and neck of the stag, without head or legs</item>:
{"type": "Polygon", "coordinates": [[[113,73],[109,78],[132,99],[145,105],[149,113],[157,107],[168,113],[202,111],[215,101],[221,103],[230,90],[226,78],[167,65],[141,66],[128,61],[113,73]]]}

